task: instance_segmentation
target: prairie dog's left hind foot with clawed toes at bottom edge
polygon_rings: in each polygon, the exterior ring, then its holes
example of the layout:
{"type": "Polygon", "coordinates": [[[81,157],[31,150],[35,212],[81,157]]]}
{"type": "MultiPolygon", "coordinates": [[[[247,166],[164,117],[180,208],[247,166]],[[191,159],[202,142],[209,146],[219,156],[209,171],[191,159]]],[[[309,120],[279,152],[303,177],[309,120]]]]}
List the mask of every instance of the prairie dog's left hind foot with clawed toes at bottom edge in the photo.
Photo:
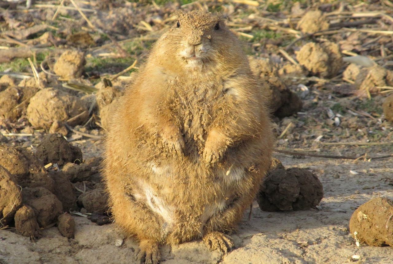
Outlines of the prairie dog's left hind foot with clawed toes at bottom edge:
{"type": "Polygon", "coordinates": [[[141,240],[134,257],[139,264],[158,264],[161,260],[158,242],[149,239],[141,240]]]}

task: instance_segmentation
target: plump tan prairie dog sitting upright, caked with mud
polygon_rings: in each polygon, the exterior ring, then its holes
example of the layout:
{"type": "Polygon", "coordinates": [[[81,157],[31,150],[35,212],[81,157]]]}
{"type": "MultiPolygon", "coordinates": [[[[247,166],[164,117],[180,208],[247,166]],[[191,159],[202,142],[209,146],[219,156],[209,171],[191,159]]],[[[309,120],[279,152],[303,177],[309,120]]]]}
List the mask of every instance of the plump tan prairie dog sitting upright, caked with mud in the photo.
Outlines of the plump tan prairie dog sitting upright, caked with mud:
{"type": "MultiPolygon", "coordinates": [[[[202,238],[233,248],[236,228],[270,166],[266,99],[237,37],[218,14],[178,12],[112,114],[104,177],[116,224],[160,244],[202,238]]],[[[138,263],[139,263],[138,262],[138,263]]]]}

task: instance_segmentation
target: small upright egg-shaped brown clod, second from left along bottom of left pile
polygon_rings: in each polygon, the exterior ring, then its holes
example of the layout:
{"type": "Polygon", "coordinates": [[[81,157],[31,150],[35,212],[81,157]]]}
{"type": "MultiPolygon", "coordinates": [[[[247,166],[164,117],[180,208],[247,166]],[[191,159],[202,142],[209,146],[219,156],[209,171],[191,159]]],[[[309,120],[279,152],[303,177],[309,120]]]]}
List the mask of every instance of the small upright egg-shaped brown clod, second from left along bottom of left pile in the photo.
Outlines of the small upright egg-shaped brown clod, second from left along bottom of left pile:
{"type": "Polygon", "coordinates": [[[23,205],[15,213],[15,229],[25,237],[38,237],[40,229],[37,223],[37,215],[33,208],[23,205]]]}

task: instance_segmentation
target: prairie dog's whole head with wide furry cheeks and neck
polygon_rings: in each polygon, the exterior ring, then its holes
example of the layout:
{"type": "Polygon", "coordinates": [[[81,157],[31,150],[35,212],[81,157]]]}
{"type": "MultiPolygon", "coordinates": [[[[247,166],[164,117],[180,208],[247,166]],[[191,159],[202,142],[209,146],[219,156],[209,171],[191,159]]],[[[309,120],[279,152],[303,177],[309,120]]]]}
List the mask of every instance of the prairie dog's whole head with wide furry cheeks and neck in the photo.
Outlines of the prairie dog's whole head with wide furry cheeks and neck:
{"type": "Polygon", "coordinates": [[[233,71],[247,63],[237,36],[222,17],[202,10],[178,11],[177,20],[156,42],[153,53],[166,59],[161,65],[185,71],[233,71]]]}

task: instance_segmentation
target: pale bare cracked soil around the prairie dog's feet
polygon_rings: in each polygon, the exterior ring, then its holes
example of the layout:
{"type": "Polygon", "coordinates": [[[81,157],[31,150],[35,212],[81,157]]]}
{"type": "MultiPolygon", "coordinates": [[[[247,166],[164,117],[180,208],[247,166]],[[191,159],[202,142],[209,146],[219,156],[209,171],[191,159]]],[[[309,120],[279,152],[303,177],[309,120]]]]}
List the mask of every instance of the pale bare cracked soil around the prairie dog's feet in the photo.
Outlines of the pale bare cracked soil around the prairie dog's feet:
{"type": "MultiPolygon", "coordinates": [[[[97,154],[83,151],[86,156],[97,154]]],[[[393,198],[392,158],[367,162],[299,159],[278,153],[275,157],[286,168],[307,168],[318,175],[325,192],[318,209],[264,212],[254,202],[250,220],[247,211],[239,229],[231,234],[235,249],[228,255],[221,258],[218,251],[209,252],[202,240],[196,240],[163,246],[161,263],[341,264],[350,262],[352,255],[360,255],[358,263],[393,263],[391,247],[357,247],[348,224],[353,211],[364,202],[393,198]]],[[[35,241],[0,230],[0,263],[135,263],[136,242],[125,239],[114,224],[97,226],[84,217],[73,218],[73,239],[62,237],[55,227],[41,230],[42,237],[35,241]]]]}

